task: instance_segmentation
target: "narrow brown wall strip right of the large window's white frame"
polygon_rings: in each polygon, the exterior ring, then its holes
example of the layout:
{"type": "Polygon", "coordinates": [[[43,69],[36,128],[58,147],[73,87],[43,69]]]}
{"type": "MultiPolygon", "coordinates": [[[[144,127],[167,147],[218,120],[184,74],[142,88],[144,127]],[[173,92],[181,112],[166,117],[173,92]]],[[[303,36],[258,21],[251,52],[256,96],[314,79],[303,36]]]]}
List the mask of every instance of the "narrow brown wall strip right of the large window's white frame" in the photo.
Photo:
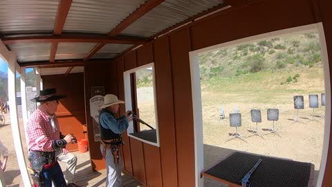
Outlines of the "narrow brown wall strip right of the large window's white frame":
{"type": "MultiPolygon", "coordinates": [[[[332,1],[329,0],[319,0],[317,1],[318,8],[320,8],[320,16],[322,17],[323,26],[324,26],[324,33],[325,33],[325,39],[326,39],[326,46],[327,46],[327,53],[329,56],[329,71],[332,72],[332,1]]],[[[331,75],[330,75],[331,77],[331,75]]],[[[330,84],[332,81],[330,81],[330,84]]],[[[330,85],[330,87],[332,87],[330,85]]],[[[330,114],[327,114],[331,116],[330,114]]],[[[324,180],[323,180],[323,186],[329,187],[332,186],[332,128],[330,129],[330,140],[329,140],[329,156],[327,157],[326,161],[326,168],[324,173],[324,180]]]]}

